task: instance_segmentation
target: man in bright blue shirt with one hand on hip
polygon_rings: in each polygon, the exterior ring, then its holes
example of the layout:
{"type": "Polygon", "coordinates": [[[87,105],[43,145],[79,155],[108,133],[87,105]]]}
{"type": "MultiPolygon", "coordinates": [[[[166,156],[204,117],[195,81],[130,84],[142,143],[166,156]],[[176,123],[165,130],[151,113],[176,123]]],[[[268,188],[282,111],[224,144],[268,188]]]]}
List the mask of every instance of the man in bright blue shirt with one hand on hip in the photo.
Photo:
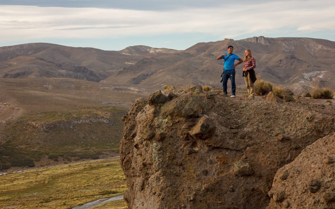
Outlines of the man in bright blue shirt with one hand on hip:
{"type": "Polygon", "coordinates": [[[223,75],[222,75],[222,87],[223,87],[223,93],[227,95],[227,82],[228,78],[231,82],[231,96],[230,98],[235,98],[235,92],[236,92],[236,84],[235,84],[235,68],[243,62],[239,56],[232,54],[232,51],[234,50],[233,46],[228,46],[228,52],[224,53],[220,56],[218,56],[217,60],[224,60],[224,69],[223,69],[223,75]],[[235,63],[235,60],[238,60],[239,62],[235,63]]]}

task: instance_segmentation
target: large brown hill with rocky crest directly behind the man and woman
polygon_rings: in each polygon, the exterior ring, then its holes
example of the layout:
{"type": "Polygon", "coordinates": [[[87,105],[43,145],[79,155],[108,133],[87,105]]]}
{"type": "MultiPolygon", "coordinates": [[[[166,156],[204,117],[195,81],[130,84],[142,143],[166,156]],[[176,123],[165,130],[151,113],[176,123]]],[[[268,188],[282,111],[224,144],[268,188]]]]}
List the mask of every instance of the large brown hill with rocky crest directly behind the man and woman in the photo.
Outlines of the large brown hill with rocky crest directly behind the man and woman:
{"type": "MultiPolygon", "coordinates": [[[[335,42],[313,38],[254,37],[198,43],[178,53],[141,60],[112,74],[106,82],[116,82],[122,75],[128,78],[123,80],[125,85],[160,88],[163,85],[208,84],[219,87],[223,62],[215,58],[226,52],[228,45],[235,46],[234,53],[242,58],[244,49],[250,48],[257,60],[256,73],[261,73],[264,80],[289,86],[295,93],[311,86],[335,88],[335,42]]],[[[239,72],[242,67],[237,68],[237,84],[244,85],[239,72]]]]}

